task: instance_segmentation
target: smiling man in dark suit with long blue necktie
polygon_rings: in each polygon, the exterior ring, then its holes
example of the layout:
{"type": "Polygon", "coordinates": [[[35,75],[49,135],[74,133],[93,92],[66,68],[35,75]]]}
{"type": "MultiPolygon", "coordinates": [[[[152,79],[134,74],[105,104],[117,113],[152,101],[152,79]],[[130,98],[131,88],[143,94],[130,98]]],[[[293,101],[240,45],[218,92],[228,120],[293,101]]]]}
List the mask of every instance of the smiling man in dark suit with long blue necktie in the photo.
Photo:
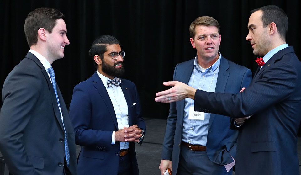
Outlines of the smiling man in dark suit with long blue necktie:
{"type": "Polygon", "coordinates": [[[30,50],[3,85],[0,151],[12,174],[77,174],[74,131],[51,67],[69,44],[63,17],[55,8],[28,14],[30,50]]]}

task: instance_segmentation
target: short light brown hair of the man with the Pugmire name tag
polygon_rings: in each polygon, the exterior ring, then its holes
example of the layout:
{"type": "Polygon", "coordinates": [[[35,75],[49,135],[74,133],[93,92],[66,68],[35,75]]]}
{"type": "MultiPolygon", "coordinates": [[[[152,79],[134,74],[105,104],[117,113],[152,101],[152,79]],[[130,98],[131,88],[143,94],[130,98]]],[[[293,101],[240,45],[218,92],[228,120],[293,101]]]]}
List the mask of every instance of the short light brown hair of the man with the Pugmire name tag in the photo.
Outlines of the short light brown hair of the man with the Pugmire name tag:
{"type": "Polygon", "coordinates": [[[205,26],[215,26],[217,28],[217,31],[220,34],[219,31],[219,22],[217,22],[216,19],[210,17],[210,16],[201,16],[198,17],[197,19],[195,19],[189,27],[189,33],[190,33],[190,37],[194,38],[195,36],[195,26],[196,25],[205,25],[205,26]]]}

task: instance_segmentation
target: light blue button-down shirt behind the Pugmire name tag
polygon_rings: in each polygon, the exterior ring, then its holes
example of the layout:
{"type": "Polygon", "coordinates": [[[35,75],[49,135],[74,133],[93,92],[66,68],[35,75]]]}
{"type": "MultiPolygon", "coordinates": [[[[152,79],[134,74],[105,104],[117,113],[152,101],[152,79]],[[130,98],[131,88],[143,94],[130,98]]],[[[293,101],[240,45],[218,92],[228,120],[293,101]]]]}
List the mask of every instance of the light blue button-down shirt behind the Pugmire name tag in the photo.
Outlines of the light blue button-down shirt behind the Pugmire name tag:
{"type": "MultiPolygon", "coordinates": [[[[219,53],[219,59],[202,72],[198,64],[198,56],[196,56],[188,85],[199,90],[214,92],[219,74],[220,57],[219,53]]],[[[188,119],[190,106],[194,107],[194,100],[185,98],[182,141],[206,146],[210,113],[205,113],[204,120],[190,120],[188,119]]]]}

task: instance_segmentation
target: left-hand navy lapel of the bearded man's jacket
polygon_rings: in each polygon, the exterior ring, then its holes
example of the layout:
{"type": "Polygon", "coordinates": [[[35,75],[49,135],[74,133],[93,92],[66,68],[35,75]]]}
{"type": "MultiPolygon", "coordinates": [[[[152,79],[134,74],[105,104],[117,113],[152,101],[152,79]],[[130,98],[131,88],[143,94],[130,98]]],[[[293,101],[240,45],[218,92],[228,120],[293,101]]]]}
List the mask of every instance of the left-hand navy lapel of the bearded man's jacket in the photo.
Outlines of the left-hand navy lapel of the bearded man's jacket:
{"type": "Polygon", "coordinates": [[[92,81],[94,82],[94,87],[97,89],[100,97],[105,102],[105,104],[108,108],[108,111],[111,114],[111,118],[114,122],[114,125],[115,125],[116,129],[118,130],[117,118],[116,118],[116,114],[115,114],[115,110],[114,110],[111,98],[108,94],[108,91],[104,87],[103,82],[101,81],[100,77],[98,76],[98,74],[96,72],[92,75],[92,81]]]}

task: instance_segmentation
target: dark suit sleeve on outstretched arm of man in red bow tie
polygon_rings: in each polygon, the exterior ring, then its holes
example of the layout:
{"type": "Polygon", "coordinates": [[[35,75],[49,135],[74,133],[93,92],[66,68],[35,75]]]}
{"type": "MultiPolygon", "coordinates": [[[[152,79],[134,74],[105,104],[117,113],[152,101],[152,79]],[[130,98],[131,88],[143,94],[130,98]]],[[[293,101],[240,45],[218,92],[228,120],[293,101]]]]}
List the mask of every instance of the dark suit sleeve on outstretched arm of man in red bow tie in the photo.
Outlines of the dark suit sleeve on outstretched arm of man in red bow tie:
{"type": "Polygon", "coordinates": [[[263,77],[253,81],[242,93],[208,93],[197,90],[195,110],[209,110],[210,113],[241,118],[256,114],[294,92],[298,75],[291,63],[279,61],[264,71],[263,77]]]}

